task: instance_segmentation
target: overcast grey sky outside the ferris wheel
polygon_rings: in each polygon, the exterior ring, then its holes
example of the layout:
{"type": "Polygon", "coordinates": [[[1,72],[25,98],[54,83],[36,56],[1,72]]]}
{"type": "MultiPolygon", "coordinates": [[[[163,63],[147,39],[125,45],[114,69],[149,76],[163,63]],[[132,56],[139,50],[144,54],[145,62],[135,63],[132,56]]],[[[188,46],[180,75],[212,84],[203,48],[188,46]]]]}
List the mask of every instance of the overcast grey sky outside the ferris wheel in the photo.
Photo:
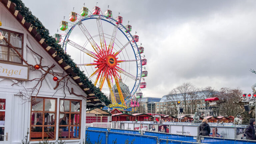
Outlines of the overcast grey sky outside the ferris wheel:
{"type": "Polygon", "coordinates": [[[51,35],[63,16],[80,13],[83,3],[128,20],[147,58],[145,97],[162,97],[178,85],[198,88],[240,87],[251,93],[256,83],[256,1],[254,0],[23,0],[51,35]]]}

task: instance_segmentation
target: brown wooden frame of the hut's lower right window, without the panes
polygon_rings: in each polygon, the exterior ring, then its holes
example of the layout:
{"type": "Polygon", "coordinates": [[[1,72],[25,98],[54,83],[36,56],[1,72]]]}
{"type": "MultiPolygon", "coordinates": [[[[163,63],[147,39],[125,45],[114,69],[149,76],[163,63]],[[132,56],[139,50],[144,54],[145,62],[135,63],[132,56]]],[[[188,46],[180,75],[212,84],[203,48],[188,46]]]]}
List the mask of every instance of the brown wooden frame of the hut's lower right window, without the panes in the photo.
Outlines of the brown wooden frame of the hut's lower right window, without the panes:
{"type": "MultiPolygon", "coordinates": [[[[67,125],[59,125],[59,127],[68,127],[68,138],[61,138],[63,140],[73,140],[73,139],[80,139],[81,138],[81,117],[82,117],[82,100],[76,100],[76,99],[60,99],[60,104],[59,104],[59,119],[60,119],[60,114],[69,114],[69,121],[68,121],[68,124],[67,125]],[[68,100],[69,101],[69,112],[61,112],[60,111],[60,105],[61,105],[61,100],[68,100]],[[80,111],[79,112],[71,112],[71,101],[79,101],[80,102],[80,111]],[[79,125],[71,125],[71,114],[79,114],[79,125]],[[70,138],[70,127],[76,127],[76,130],[77,130],[77,127],[80,127],[79,128],[79,137],[78,138],[70,138]]],[[[64,102],[63,102],[63,105],[64,105],[64,102]]],[[[60,123],[60,121],[59,121],[60,123]]],[[[58,135],[58,138],[60,136],[60,132],[59,132],[59,135],[58,135]]]]}

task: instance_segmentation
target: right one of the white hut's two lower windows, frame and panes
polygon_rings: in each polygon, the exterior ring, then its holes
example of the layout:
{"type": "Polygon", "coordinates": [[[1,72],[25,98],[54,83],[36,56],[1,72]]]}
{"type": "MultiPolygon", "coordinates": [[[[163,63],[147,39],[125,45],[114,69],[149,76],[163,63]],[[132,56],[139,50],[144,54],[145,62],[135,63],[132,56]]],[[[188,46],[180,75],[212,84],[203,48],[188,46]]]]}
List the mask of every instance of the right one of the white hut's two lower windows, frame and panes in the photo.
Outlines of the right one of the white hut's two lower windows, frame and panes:
{"type": "Polygon", "coordinates": [[[81,100],[60,99],[59,138],[80,138],[81,105],[81,100]]]}

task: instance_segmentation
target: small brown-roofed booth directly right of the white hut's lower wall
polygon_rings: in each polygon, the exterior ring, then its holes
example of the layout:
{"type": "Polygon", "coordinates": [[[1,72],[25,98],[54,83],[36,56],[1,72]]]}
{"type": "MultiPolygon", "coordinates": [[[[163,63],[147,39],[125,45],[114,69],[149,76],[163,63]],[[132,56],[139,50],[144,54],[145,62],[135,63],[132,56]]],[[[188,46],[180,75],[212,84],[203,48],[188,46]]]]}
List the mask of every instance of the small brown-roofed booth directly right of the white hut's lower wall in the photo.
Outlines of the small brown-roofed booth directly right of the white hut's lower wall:
{"type": "Polygon", "coordinates": [[[101,108],[93,108],[86,111],[86,123],[110,122],[111,113],[101,108]]]}

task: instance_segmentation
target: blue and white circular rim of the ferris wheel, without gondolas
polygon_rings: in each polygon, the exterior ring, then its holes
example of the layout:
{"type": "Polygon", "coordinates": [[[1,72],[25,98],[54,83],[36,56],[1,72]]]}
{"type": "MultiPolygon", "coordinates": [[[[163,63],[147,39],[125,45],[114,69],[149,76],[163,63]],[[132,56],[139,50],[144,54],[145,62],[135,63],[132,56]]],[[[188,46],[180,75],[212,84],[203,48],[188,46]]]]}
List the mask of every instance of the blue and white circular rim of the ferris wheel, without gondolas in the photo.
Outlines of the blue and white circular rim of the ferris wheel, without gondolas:
{"type": "MultiPolygon", "coordinates": [[[[104,15],[88,15],[88,16],[82,18],[82,19],[79,19],[75,24],[72,23],[73,26],[68,30],[68,33],[66,34],[66,36],[65,36],[65,38],[64,38],[64,40],[63,40],[62,47],[64,47],[64,45],[65,45],[65,51],[66,51],[66,48],[67,48],[67,41],[66,41],[66,39],[68,40],[68,38],[69,38],[69,36],[70,36],[72,30],[75,28],[75,26],[76,26],[79,22],[82,22],[82,21],[85,21],[85,20],[88,20],[88,19],[97,19],[96,17],[108,18],[108,19],[113,20],[114,22],[118,22],[118,21],[115,20],[114,18],[112,18],[112,17],[107,17],[107,16],[104,16],[104,15]]],[[[106,22],[108,22],[108,23],[110,23],[110,24],[112,24],[112,25],[115,26],[115,24],[114,24],[112,21],[109,21],[109,20],[106,20],[106,19],[101,19],[101,20],[104,20],[104,21],[106,21],[106,22]]],[[[127,30],[123,24],[119,23],[119,25],[121,25],[122,28],[124,28],[125,30],[127,30]]],[[[124,31],[121,30],[120,27],[118,27],[118,29],[123,33],[123,35],[127,38],[128,41],[129,41],[129,38],[127,37],[127,35],[130,35],[130,37],[134,40],[134,43],[135,43],[135,46],[136,46],[137,51],[139,51],[138,45],[137,45],[135,39],[133,38],[132,34],[127,30],[127,33],[128,33],[128,34],[126,35],[126,34],[124,33],[124,31]]],[[[136,52],[135,52],[134,46],[132,45],[132,43],[130,43],[130,45],[131,45],[131,47],[132,47],[132,49],[133,49],[133,52],[134,52],[134,55],[135,55],[135,59],[137,60],[137,56],[136,56],[136,52]]],[[[142,78],[142,77],[141,77],[141,73],[142,73],[141,58],[142,58],[142,57],[141,57],[140,53],[138,53],[138,55],[139,55],[139,60],[140,60],[140,62],[139,62],[139,64],[138,64],[138,61],[136,61],[136,65],[137,65],[137,67],[136,67],[136,70],[137,70],[137,72],[136,72],[136,78],[137,78],[137,80],[135,80],[135,83],[134,83],[134,85],[133,85],[133,88],[132,88],[132,90],[130,91],[131,97],[132,97],[132,96],[137,92],[137,90],[139,89],[139,84],[140,84],[141,78],[142,78]],[[138,72],[139,72],[138,67],[140,67],[140,74],[138,74],[138,72]],[[137,84],[137,81],[138,81],[138,84],[137,84]],[[134,88],[135,88],[135,89],[134,89],[134,88]]],[[[125,99],[126,99],[126,98],[125,98],[125,99]]]]}

